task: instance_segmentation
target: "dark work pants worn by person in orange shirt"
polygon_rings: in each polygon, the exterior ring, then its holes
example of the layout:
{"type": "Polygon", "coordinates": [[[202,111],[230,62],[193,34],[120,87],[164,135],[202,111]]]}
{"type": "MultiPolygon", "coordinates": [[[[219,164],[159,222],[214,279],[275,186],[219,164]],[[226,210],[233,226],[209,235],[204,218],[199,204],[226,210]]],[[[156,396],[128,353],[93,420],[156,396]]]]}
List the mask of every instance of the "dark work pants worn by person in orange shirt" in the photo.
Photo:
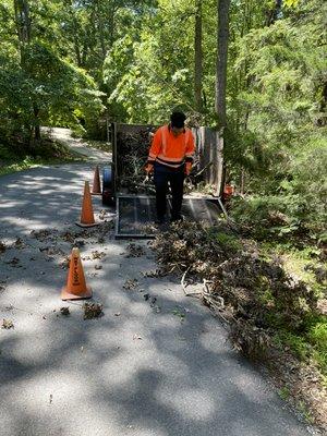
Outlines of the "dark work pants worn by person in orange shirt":
{"type": "Polygon", "coordinates": [[[184,166],[174,169],[155,162],[154,182],[156,186],[157,218],[164,219],[167,210],[168,184],[171,189],[171,219],[181,218],[183,201],[184,166]]]}

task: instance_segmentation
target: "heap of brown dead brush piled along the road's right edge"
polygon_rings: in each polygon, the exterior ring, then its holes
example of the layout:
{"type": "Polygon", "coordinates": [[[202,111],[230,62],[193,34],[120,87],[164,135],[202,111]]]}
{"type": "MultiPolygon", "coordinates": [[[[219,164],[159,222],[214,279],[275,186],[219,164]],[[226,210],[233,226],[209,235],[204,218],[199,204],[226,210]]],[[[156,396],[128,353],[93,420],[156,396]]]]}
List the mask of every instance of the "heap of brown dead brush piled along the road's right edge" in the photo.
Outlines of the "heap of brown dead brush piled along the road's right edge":
{"type": "MultiPolygon", "coordinates": [[[[265,341],[274,325],[301,330],[304,316],[316,310],[313,290],[293,282],[278,259],[261,258],[255,245],[237,238],[223,223],[207,229],[195,222],[173,225],[172,231],[156,238],[154,246],[167,271],[189,269],[189,277],[205,280],[203,299],[223,306],[231,325],[242,322],[256,334],[265,330],[265,341]]],[[[241,343],[249,354],[245,339],[241,343]]]]}

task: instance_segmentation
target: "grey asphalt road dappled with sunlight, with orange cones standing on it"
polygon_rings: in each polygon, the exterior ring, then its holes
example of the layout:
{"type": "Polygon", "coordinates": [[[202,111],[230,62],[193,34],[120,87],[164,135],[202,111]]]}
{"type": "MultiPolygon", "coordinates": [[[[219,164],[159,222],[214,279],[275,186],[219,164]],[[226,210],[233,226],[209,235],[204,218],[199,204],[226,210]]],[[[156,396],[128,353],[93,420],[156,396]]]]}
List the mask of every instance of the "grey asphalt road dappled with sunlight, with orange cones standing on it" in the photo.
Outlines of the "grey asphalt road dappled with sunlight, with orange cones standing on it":
{"type": "Polygon", "coordinates": [[[0,178],[0,319],[14,323],[0,329],[0,436],[307,435],[178,280],[143,277],[156,268],[153,253],[144,241],[145,255],[126,257],[113,210],[87,233],[74,226],[92,178],[89,164],[0,178]],[[75,243],[104,304],[98,319],[60,300],[75,243]]]}

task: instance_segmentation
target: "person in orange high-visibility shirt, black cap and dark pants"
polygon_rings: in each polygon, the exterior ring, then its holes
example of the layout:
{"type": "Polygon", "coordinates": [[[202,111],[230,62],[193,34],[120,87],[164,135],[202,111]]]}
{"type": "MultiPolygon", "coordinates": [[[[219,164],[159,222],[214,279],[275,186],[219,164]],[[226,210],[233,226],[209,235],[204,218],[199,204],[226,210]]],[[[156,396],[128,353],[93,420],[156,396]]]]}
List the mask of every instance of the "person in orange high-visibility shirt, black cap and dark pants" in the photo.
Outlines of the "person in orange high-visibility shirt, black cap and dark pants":
{"type": "Polygon", "coordinates": [[[193,134],[184,126],[185,114],[172,112],[170,123],[157,130],[153,137],[145,170],[154,172],[157,223],[166,222],[168,184],[171,189],[171,221],[182,220],[184,177],[192,169],[195,149],[193,134]]]}

